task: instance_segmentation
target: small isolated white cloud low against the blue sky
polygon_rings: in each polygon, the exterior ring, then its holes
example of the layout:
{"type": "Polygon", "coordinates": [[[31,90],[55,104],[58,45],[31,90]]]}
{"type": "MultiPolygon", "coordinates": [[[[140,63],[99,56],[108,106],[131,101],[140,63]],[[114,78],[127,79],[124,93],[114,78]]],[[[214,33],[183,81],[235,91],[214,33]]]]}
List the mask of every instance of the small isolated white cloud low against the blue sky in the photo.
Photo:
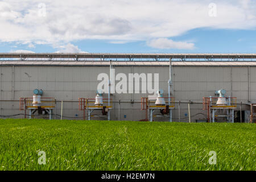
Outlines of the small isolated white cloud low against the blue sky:
{"type": "Polygon", "coordinates": [[[195,44],[188,42],[175,42],[171,39],[153,39],[147,43],[148,46],[159,49],[194,49],[195,44]]]}

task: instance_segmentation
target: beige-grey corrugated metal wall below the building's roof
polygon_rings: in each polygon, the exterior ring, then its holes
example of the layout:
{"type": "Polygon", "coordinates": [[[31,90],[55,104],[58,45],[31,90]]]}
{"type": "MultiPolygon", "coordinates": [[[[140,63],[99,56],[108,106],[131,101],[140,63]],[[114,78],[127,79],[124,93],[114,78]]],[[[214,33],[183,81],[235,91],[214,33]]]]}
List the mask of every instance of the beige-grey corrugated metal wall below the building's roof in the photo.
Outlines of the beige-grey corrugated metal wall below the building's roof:
{"type": "MultiPolygon", "coordinates": [[[[167,81],[169,67],[118,67],[115,75],[125,73],[159,73],[159,88],[164,89],[168,96],[167,81]]],[[[237,97],[237,102],[246,104],[248,100],[256,102],[256,67],[174,67],[173,68],[174,97],[176,102],[202,102],[203,97],[214,96],[218,89],[227,90],[226,96],[237,97]],[[250,92],[249,92],[250,90],[250,92]]],[[[19,111],[20,97],[32,97],[35,88],[44,90],[44,97],[57,99],[56,114],[60,114],[60,101],[64,100],[63,115],[75,119],[82,118],[78,110],[78,98],[94,98],[96,94],[97,76],[100,73],[109,75],[109,67],[56,67],[56,66],[0,66],[0,115],[13,115],[19,111]],[[10,101],[6,101],[10,100],[10,101]],[[11,101],[16,100],[16,101],[11,101]]],[[[117,81],[118,82],[118,81],[117,81]]],[[[117,83],[116,82],[116,83],[117,83]]],[[[127,86],[128,88],[128,86],[127,86]]],[[[112,119],[138,121],[145,118],[141,111],[141,97],[147,94],[113,94],[114,108],[112,119]],[[121,100],[120,116],[118,101],[121,100]],[[134,100],[134,103],[131,103],[134,100]],[[125,118],[126,115],[126,118],[125,118]]],[[[106,97],[106,95],[105,95],[106,97]]],[[[202,104],[191,105],[191,115],[204,113],[202,104]]],[[[180,105],[181,121],[188,121],[188,106],[180,105]],[[184,119],[182,119],[184,118],[184,119]]],[[[238,108],[239,109],[239,108],[238,108]]],[[[243,110],[249,110],[243,106],[243,110]]],[[[57,116],[58,118],[58,116],[57,116]]],[[[173,114],[174,121],[178,118],[177,104],[173,114]]],[[[202,114],[192,118],[204,119],[202,114]]],[[[69,118],[67,118],[69,119],[69,118]]],[[[159,119],[159,121],[167,121],[159,119]]]]}

